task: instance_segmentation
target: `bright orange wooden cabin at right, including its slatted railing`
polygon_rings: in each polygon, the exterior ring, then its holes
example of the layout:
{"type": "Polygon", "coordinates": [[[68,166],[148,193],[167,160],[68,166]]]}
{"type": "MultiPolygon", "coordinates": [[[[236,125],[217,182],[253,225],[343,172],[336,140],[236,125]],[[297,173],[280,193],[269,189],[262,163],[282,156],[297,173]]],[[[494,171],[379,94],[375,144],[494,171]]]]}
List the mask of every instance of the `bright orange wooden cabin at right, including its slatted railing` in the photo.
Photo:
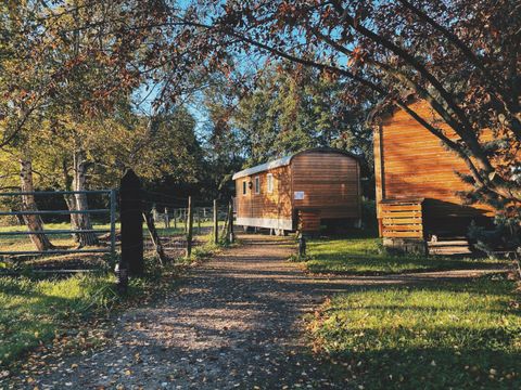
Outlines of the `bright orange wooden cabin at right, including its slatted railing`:
{"type": "MultiPolygon", "coordinates": [[[[410,107],[456,139],[425,102],[410,107]]],[[[374,128],[377,218],[386,246],[404,246],[440,237],[465,236],[471,220],[490,223],[492,209],[463,205],[469,190],[456,172],[468,167],[455,153],[404,110],[381,117],[374,128]]]]}

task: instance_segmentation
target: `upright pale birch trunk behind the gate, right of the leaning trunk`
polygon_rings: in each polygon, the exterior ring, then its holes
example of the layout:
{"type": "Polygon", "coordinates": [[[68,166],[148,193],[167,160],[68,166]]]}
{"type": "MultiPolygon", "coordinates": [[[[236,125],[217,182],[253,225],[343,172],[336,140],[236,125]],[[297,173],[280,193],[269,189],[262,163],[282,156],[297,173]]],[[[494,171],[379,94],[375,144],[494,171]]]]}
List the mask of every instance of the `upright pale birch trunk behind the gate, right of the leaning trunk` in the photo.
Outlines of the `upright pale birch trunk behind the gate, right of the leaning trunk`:
{"type": "MultiPolygon", "coordinates": [[[[74,179],[73,179],[73,188],[74,191],[86,191],[87,188],[87,158],[85,151],[78,150],[74,154],[74,179]]],[[[87,194],[74,194],[72,196],[74,202],[74,209],[78,211],[85,211],[89,209],[89,204],[87,202],[87,194]]],[[[73,219],[72,219],[73,220],[73,219]]],[[[90,220],[90,214],[76,214],[75,217],[76,229],[79,230],[91,230],[92,222],[90,220]]],[[[98,237],[94,233],[79,233],[78,244],[79,247],[98,245],[98,237]]]]}

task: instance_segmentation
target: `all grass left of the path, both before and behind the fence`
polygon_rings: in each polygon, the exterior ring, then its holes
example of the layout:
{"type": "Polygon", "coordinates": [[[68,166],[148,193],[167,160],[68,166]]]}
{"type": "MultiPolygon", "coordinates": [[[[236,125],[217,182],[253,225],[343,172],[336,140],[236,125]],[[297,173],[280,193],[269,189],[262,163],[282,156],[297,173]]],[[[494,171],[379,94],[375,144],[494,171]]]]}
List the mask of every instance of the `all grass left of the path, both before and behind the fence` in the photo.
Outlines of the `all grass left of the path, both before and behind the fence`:
{"type": "MultiPolygon", "coordinates": [[[[178,229],[164,229],[161,227],[162,225],[158,223],[157,226],[162,237],[183,234],[182,224],[178,224],[178,229]]],[[[205,229],[201,231],[201,235],[198,235],[198,225],[194,225],[194,238],[203,243],[208,242],[208,244],[194,247],[192,259],[176,259],[176,263],[188,264],[191,261],[211,257],[219,249],[219,246],[209,244],[207,233],[211,225],[212,222],[202,223],[202,227],[205,229]]],[[[49,230],[67,230],[69,227],[68,223],[46,224],[46,229],[49,230]]],[[[110,225],[96,224],[94,229],[110,229],[110,225]]],[[[116,225],[116,229],[119,230],[119,224],[116,225]]],[[[25,230],[25,226],[0,227],[0,231],[18,230],[25,230]]],[[[143,225],[143,235],[149,238],[145,225],[143,225]]],[[[76,246],[68,234],[49,237],[54,245],[76,246]]],[[[0,249],[34,250],[34,246],[28,236],[2,236],[0,237],[0,249]]],[[[50,259],[54,262],[74,262],[81,256],[85,257],[85,255],[38,257],[24,263],[38,264],[50,259]]],[[[91,257],[99,258],[99,256],[91,257]]],[[[0,266],[2,266],[1,261],[0,266]]],[[[143,296],[150,296],[163,288],[171,288],[171,276],[176,272],[174,268],[166,266],[158,270],[157,262],[151,255],[147,258],[147,270],[145,277],[130,280],[127,298],[143,298],[143,296]],[[163,280],[164,284],[158,283],[163,280]]],[[[52,280],[31,276],[30,272],[26,275],[27,277],[0,276],[0,367],[16,364],[26,351],[30,351],[41,343],[48,344],[55,338],[55,335],[67,329],[74,332],[81,329],[86,324],[86,318],[97,318],[99,314],[106,314],[113,307],[119,307],[128,300],[116,295],[116,281],[112,272],[52,280]]]]}

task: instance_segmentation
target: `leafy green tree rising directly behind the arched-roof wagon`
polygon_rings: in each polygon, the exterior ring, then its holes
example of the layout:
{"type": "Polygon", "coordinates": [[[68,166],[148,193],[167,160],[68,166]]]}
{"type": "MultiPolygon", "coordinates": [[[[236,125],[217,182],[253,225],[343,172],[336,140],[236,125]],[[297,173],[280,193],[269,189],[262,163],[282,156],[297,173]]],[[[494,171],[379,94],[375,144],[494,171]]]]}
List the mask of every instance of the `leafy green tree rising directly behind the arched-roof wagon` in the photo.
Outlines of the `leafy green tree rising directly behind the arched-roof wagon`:
{"type": "Polygon", "coordinates": [[[256,87],[238,98],[231,126],[239,130],[249,164],[309,147],[334,146],[372,161],[371,101],[352,106],[342,80],[288,62],[262,70],[256,87]]]}

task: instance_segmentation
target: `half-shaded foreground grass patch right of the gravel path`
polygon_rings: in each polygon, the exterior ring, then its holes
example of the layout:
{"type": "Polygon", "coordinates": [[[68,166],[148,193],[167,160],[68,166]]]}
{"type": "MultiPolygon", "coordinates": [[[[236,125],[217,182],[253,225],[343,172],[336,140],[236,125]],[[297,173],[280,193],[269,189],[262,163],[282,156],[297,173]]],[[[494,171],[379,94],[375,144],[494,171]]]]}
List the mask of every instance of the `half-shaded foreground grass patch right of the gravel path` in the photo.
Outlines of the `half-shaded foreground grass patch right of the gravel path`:
{"type": "Polygon", "coordinates": [[[354,290],[326,303],[310,335],[338,375],[366,389],[519,389],[513,287],[488,276],[354,290]]]}

